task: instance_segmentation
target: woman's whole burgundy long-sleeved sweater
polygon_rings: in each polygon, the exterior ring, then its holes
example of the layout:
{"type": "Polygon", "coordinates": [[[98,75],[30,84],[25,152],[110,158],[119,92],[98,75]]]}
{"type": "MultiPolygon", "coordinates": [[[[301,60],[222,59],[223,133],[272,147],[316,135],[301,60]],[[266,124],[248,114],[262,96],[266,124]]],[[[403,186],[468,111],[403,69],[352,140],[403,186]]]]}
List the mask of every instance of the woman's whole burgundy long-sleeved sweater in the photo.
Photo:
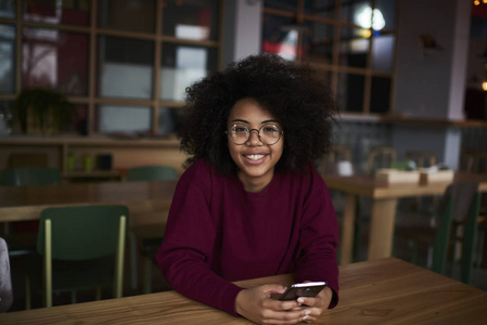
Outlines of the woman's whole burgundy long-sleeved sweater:
{"type": "Polygon", "coordinates": [[[201,159],[181,176],[157,261],[172,288],[235,314],[242,288],[231,282],[295,273],[326,281],[338,301],[338,226],[323,179],[274,172],[259,193],[201,159]]]}

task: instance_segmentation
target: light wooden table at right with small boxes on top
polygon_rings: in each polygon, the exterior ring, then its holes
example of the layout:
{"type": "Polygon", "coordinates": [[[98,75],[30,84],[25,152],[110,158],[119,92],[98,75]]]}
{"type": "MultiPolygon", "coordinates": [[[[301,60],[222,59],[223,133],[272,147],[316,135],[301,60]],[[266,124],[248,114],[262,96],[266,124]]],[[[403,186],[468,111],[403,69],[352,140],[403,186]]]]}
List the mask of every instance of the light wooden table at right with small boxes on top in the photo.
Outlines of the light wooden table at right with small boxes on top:
{"type": "MultiPolygon", "coordinates": [[[[341,263],[351,262],[357,196],[372,199],[368,260],[390,256],[397,200],[401,197],[441,195],[449,183],[428,185],[390,184],[376,182],[372,176],[324,176],[330,190],[346,194],[341,236],[341,263]]],[[[456,173],[453,182],[479,182],[479,191],[487,192],[487,174],[456,173]]]]}

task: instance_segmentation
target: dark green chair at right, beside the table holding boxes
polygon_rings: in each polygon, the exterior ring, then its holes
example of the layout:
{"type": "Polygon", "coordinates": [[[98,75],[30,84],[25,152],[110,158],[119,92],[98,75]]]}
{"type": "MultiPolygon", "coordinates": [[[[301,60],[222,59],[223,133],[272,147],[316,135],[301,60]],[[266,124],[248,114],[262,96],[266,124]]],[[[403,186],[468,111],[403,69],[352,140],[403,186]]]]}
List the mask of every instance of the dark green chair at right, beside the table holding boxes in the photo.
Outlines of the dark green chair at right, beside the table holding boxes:
{"type": "MultiPolygon", "coordinates": [[[[462,245],[461,281],[470,283],[474,257],[475,233],[480,202],[478,183],[450,184],[431,218],[427,214],[401,213],[396,216],[396,239],[403,237],[412,244],[412,261],[415,262],[418,246],[428,247],[427,266],[446,274],[448,252],[454,252],[453,243],[462,245]],[[463,236],[456,235],[453,224],[463,227],[463,236]]],[[[454,253],[453,253],[454,262],[454,253]]]]}

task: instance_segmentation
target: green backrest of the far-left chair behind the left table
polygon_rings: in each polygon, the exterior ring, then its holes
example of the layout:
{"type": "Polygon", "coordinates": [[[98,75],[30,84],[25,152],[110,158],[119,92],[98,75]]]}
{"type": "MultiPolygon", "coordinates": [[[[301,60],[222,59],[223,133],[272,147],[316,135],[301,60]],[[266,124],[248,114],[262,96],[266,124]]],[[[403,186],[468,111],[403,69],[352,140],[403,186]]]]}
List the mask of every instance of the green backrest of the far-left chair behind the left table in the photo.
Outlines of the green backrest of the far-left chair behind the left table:
{"type": "Polygon", "coordinates": [[[8,168],[0,173],[0,184],[9,186],[61,183],[61,172],[51,167],[8,168]]]}

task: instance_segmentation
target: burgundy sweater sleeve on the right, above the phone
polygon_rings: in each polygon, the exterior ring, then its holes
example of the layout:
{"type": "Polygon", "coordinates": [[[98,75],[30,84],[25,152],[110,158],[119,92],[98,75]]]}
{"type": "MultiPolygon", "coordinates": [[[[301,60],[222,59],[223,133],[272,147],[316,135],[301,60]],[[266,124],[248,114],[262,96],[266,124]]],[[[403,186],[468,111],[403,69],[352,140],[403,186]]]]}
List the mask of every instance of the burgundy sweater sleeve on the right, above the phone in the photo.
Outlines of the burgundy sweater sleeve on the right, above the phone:
{"type": "Polygon", "coordinates": [[[330,309],[338,302],[338,223],[330,192],[313,167],[311,182],[305,204],[299,230],[299,245],[296,257],[296,278],[304,281],[326,281],[333,290],[330,309]]]}

